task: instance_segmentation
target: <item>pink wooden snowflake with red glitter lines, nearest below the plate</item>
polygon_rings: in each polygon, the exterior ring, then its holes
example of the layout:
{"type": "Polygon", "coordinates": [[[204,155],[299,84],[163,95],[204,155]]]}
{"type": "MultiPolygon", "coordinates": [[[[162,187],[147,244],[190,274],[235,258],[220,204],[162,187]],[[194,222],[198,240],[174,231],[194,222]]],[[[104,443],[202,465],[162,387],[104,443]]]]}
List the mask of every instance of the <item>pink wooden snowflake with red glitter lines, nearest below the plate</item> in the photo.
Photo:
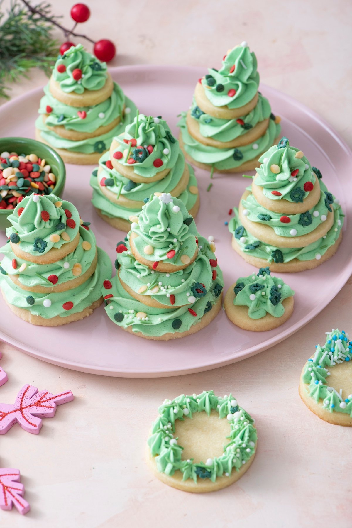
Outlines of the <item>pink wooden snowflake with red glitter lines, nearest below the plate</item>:
{"type": "Polygon", "coordinates": [[[71,391],[54,396],[48,391],[38,392],[33,385],[24,385],[14,404],[0,403],[0,435],[5,435],[16,422],[25,431],[37,434],[42,427],[41,418],[52,418],[56,405],[72,400],[71,391]]]}

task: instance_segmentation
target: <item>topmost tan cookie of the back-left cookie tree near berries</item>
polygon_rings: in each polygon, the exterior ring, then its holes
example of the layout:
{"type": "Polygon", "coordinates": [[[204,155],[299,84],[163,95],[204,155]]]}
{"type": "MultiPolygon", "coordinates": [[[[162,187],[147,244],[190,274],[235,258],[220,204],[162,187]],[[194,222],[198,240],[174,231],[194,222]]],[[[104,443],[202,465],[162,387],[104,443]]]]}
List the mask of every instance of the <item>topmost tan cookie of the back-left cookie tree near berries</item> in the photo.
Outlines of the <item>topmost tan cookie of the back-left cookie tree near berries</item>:
{"type": "Polygon", "coordinates": [[[82,107],[82,106],[94,106],[99,103],[106,101],[112,93],[113,81],[110,73],[108,73],[105,84],[100,90],[84,90],[83,93],[70,92],[66,93],[60,88],[58,81],[54,81],[53,77],[49,81],[49,90],[51,95],[63,102],[64,105],[82,107]]]}

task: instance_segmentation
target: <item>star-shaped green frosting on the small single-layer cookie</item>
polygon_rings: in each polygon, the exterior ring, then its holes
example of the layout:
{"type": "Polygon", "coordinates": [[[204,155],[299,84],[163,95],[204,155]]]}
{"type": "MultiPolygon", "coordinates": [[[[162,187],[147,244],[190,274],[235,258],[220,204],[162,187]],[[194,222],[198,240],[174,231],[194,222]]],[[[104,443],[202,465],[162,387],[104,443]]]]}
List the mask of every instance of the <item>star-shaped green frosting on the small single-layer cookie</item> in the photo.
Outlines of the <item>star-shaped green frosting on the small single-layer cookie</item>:
{"type": "Polygon", "coordinates": [[[234,287],[235,306],[248,306],[251,319],[261,319],[270,314],[281,317],[284,314],[282,301],[294,295],[294,291],[278,277],[273,277],[270,269],[260,268],[258,274],[240,277],[234,287]]]}

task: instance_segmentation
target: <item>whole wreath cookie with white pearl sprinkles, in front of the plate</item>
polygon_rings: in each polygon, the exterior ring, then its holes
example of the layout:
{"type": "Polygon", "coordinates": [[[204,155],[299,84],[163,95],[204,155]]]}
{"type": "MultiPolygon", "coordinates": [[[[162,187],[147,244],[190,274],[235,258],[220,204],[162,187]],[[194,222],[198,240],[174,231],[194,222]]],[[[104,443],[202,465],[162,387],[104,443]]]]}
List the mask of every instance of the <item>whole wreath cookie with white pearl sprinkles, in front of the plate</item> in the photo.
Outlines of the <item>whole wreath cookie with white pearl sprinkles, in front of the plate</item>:
{"type": "Polygon", "coordinates": [[[187,492],[212,492],[236,482],[252,464],[254,420],[231,393],[223,398],[213,391],[181,394],[165,400],[158,411],[147,442],[147,461],[164,484],[187,492]]]}

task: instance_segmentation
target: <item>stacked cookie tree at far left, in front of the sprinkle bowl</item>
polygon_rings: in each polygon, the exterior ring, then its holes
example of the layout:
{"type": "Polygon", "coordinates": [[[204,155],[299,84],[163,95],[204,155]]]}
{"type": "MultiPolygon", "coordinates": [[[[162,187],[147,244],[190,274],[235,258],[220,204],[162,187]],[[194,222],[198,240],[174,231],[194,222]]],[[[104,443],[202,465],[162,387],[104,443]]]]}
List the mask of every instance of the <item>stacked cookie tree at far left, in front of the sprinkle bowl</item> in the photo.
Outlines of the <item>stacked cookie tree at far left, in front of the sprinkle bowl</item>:
{"type": "Polygon", "coordinates": [[[0,287],[9,308],[42,326],[90,315],[103,301],[101,285],[111,276],[111,262],[97,248],[89,222],[53,194],[26,196],[8,220],[0,287]]]}

